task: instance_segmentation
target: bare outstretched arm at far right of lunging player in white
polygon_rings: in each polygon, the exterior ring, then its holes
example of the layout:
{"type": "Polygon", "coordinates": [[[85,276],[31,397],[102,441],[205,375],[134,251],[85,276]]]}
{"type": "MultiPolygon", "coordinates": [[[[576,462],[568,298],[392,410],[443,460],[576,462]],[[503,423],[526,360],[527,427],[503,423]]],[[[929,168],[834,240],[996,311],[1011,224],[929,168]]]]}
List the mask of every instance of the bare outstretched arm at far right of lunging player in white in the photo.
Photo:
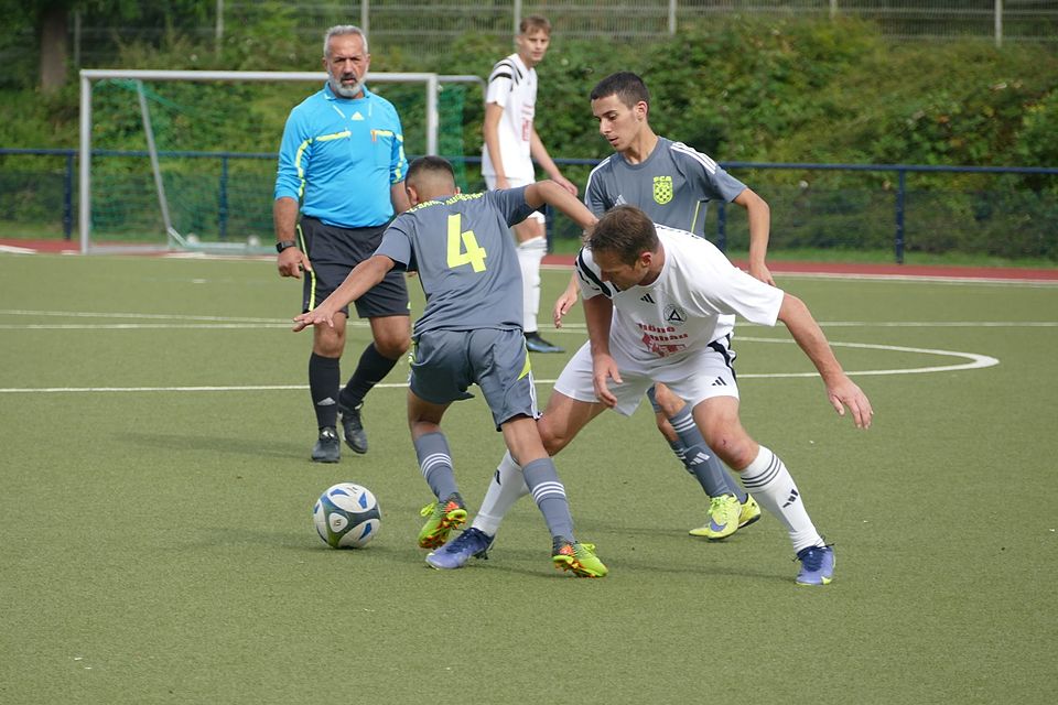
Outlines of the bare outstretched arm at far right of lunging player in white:
{"type": "Polygon", "coordinates": [[[786,294],[779,307],[779,321],[786,324],[797,345],[812,361],[819,376],[827,386],[827,399],[839,415],[845,415],[845,406],[852,412],[852,421],[857,429],[870,429],[874,410],[867,395],[849,379],[834,351],[827,341],[822,328],[812,317],[808,306],[797,296],[786,294]]]}

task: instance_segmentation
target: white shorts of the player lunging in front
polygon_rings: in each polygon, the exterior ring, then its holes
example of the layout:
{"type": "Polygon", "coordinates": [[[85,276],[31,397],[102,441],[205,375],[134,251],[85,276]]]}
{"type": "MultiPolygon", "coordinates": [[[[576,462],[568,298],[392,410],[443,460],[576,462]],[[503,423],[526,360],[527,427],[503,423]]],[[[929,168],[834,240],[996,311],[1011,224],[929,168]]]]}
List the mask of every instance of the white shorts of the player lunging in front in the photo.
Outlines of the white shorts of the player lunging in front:
{"type": "MultiPolygon", "coordinates": [[[[661,382],[691,405],[713,397],[734,397],[738,399],[738,384],[735,381],[735,351],[731,349],[728,338],[714,340],[708,347],[689,350],[673,357],[659,357],[657,361],[641,362],[611,350],[620,371],[622,383],[609,380],[607,387],[617,398],[614,410],[630,416],[639,408],[646,391],[655,382],[661,382]]],[[[554,383],[554,391],[570,399],[596,402],[593,382],[591,344],[581,346],[566,362],[554,383]]]]}

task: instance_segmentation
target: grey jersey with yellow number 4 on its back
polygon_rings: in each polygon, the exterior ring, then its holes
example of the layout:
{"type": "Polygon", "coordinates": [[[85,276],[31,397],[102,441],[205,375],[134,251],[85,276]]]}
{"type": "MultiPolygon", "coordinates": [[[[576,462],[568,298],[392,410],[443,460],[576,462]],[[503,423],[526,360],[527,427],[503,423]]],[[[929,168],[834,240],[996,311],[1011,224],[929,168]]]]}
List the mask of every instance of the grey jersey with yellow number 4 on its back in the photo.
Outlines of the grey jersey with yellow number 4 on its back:
{"type": "Polygon", "coordinates": [[[521,269],[508,228],[533,210],[525,192],[428,200],[386,229],[375,253],[419,272],[427,295],[415,338],[429,330],[521,329],[521,269]]]}

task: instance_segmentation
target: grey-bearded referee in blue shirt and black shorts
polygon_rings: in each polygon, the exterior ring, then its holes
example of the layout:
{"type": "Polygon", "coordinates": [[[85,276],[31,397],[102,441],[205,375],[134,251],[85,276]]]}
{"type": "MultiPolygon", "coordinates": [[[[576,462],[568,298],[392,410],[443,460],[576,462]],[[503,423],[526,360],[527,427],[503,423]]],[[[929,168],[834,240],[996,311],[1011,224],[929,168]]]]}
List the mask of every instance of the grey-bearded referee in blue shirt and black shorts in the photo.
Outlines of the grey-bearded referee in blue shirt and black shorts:
{"type": "MultiPolygon", "coordinates": [[[[408,209],[400,118],[364,85],[371,61],[367,36],[357,26],[333,26],[323,50],[327,84],[287,119],[272,206],[279,273],[301,279],[304,272],[302,312],[312,311],[370,258],[389,221],[408,209]]],[[[317,463],[337,463],[342,456],[339,414],[345,442],[354,452],[367,453],[364,397],[411,344],[408,289],[401,273],[390,272],[356,302],[374,340],[342,388],[348,313],[346,306],[333,327],[314,328],[309,391],[319,427],[312,449],[317,463]]]]}

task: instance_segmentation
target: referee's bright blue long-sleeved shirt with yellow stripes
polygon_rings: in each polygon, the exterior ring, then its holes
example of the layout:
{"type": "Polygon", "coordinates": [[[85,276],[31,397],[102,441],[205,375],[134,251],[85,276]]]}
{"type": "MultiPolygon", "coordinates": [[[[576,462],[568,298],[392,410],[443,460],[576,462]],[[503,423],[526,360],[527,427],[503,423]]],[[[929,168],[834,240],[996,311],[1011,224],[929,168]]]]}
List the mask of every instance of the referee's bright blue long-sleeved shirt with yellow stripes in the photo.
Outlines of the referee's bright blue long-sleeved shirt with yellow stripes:
{"type": "Polygon", "coordinates": [[[364,88],[339,98],[324,85],[290,111],[279,148],[276,198],[301,200],[301,213],[343,228],[393,217],[390,186],[404,180],[404,135],[392,104],[364,88]]]}

